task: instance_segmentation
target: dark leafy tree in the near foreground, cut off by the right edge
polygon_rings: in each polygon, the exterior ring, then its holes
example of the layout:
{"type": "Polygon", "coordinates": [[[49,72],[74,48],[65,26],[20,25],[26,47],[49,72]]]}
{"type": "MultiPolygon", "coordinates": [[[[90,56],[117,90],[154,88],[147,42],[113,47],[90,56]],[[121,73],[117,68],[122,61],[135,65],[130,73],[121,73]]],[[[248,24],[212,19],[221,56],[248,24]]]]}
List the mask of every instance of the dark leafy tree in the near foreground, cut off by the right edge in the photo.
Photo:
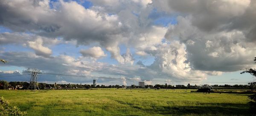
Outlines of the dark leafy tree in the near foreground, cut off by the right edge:
{"type": "MultiPolygon", "coordinates": [[[[256,57],[254,58],[253,61],[256,61],[256,57]]],[[[249,74],[253,75],[254,77],[256,77],[256,69],[246,69],[245,71],[241,72],[241,74],[244,74],[244,73],[249,73],[249,74]]],[[[256,82],[252,82],[252,83],[248,83],[248,84],[250,85],[249,88],[252,91],[256,91],[256,82]]],[[[249,102],[250,109],[251,109],[251,111],[256,113],[256,110],[255,110],[256,109],[256,94],[249,95],[248,97],[249,97],[249,99],[252,100],[249,102]]]]}

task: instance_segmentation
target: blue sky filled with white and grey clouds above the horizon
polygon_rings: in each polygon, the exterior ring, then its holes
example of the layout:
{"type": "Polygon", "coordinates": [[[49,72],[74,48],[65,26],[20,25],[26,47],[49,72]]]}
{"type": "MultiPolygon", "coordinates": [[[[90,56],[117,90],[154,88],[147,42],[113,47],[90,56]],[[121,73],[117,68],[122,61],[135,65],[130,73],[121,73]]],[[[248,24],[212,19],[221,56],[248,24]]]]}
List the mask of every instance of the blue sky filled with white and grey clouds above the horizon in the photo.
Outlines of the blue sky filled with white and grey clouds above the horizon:
{"type": "Polygon", "coordinates": [[[255,0],[1,0],[0,80],[244,85],[255,22],[255,0]]]}

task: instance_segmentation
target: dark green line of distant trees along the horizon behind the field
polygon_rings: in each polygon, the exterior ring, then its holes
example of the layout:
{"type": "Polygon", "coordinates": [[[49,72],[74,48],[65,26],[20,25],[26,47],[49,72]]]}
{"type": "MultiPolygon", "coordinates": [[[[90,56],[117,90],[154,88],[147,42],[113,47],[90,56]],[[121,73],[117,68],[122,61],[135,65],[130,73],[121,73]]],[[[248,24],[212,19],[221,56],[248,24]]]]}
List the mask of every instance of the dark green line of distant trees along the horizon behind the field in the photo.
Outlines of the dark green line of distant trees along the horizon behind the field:
{"type": "MultiPolygon", "coordinates": [[[[7,89],[9,87],[19,87],[17,89],[27,89],[29,86],[28,82],[7,82],[5,80],[0,80],[0,89],[7,89]],[[21,87],[22,88],[21,88],[21,87]]],[[[119,85],[109,85],[109,86],[105,86],[105,85],[90,85],[90,84],[47,84],[47,83],[38,83],[39,89],[70,89],[70,88],[142,88],[140,86],[135,86],[135,85],[131,85],[131,86],[119,86],[119,85]]],[[[160,85],[160,84],[156,84],[155,86],[153,85],[145,85],[144,88],[195,88],[197,86],[184,86],[184,85],[179,85],[179,86],[172,86],[172,85],[160,85]]],[[[221,88],[243,88],[243,89],[249,89],[251,88],[249,85],[213,85],[212,87],[221,87],[221,88]]]]}

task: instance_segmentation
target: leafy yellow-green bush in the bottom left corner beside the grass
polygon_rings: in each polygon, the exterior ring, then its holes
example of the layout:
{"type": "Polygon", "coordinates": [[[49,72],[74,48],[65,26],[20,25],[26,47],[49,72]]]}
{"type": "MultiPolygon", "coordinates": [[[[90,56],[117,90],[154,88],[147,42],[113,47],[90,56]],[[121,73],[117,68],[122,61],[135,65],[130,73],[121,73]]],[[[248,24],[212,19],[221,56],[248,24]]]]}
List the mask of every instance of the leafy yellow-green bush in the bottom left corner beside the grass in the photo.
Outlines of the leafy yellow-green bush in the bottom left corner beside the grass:
{"type": "Polygon", "coordinates": [[[0,116],[24,116],[26,112],[21,112],[20,108],[16,106],[9,106],[9,102],[7,102],[3,97],[0,97],[0,116]]]}

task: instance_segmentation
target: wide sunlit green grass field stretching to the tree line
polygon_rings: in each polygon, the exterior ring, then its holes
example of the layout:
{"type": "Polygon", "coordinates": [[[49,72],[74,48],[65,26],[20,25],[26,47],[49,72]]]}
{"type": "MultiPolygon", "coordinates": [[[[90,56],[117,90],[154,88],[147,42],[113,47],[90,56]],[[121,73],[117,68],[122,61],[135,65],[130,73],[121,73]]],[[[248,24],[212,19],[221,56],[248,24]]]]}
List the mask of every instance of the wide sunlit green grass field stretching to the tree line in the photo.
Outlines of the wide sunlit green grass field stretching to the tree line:
{"type": "Polygon", "coordinates": [[[186,89],[0,90],[28,116],[251,115],[248,94],[186,89]],[[195,90],[193,90],[195,91],[195,90]]]}

